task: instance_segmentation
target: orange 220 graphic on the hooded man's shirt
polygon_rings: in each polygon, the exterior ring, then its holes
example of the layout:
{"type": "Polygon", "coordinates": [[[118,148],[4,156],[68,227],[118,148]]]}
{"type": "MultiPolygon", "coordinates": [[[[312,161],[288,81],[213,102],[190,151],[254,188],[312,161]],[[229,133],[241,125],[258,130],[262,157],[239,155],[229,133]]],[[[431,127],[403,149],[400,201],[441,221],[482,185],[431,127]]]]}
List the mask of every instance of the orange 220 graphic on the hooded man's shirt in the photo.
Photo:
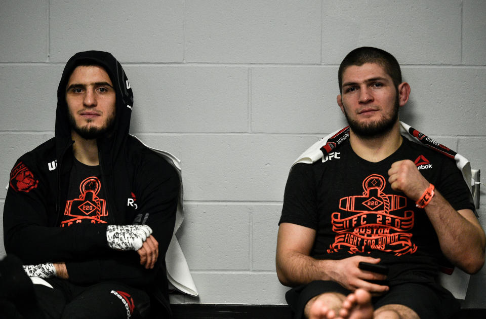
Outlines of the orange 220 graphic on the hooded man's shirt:
{"type": "Polygon", "coordinates": [[[93,224],[106,223],[101,217],[108,216],[106,201],[97,195],[101,188],[100,180],[88,177],[79,184],[79,198],[66,201],[64,215],[73,218],[62,221],[61,226],[71,226],[73,223],[91,222],[93,224]]]}

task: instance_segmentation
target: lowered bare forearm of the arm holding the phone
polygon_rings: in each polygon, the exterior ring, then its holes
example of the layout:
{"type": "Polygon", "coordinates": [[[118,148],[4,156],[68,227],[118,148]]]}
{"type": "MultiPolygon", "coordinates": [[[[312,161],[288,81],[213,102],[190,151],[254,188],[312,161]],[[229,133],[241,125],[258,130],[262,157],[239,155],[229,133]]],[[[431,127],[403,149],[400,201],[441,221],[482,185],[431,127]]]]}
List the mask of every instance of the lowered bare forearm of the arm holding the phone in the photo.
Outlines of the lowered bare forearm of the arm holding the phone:
{"type": "Polygon", "coordinates": [[[277,255],[276,270],[282,285],[295,287],[314,280],[333,280],[334,260],[319,260],[298,252],[277,255]]]}

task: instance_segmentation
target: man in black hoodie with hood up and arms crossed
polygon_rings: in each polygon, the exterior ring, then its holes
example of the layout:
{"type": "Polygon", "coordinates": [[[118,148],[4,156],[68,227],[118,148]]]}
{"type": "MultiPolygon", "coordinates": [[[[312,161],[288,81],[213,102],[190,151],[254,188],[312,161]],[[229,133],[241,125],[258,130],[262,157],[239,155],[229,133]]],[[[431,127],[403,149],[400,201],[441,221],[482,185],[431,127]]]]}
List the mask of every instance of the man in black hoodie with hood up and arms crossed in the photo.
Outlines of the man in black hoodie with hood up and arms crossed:
{"type": "Polygon", "coordinates": [[[132,107],[110,53],[75,54],[59,83],[55,137],[12,169],[5,247],[40,283],[48,317],[148,317],[150,306],[171,315],[165,254],[180,178],[129,135],[132,107]]]}

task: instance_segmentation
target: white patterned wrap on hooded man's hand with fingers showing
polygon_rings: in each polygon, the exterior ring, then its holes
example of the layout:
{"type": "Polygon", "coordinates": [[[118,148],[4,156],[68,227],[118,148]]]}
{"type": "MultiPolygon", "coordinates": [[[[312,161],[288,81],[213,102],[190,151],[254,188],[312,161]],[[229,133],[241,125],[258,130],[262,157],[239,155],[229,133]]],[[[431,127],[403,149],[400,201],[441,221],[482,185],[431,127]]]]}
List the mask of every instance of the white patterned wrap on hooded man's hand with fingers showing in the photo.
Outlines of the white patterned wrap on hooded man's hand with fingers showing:
{"type": "Polygon", "coordinates": [[[106,241],[112,249],[137,251],[151,233],[152,229],[147,225],[108,225],[106,241]]]}

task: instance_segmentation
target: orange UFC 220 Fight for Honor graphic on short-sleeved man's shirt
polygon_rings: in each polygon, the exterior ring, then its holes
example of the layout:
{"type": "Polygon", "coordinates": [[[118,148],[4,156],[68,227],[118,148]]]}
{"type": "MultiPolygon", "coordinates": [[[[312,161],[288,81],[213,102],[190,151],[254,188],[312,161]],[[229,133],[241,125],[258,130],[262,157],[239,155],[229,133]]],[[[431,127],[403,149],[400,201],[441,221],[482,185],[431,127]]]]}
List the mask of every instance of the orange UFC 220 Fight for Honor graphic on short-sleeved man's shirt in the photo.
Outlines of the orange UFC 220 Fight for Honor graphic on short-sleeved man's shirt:
{"type": "Polygon", "coordinates": [[[363,180],[361,195],[341,198],[341,211],[331,216],[336,236],[328,253],[378,250],[400,256],[417,251],[409,232],[414,227],[414,211],[406,209],[407,197],[385,194],[385,185],[383,176],[372,174],[363,180]]]}

